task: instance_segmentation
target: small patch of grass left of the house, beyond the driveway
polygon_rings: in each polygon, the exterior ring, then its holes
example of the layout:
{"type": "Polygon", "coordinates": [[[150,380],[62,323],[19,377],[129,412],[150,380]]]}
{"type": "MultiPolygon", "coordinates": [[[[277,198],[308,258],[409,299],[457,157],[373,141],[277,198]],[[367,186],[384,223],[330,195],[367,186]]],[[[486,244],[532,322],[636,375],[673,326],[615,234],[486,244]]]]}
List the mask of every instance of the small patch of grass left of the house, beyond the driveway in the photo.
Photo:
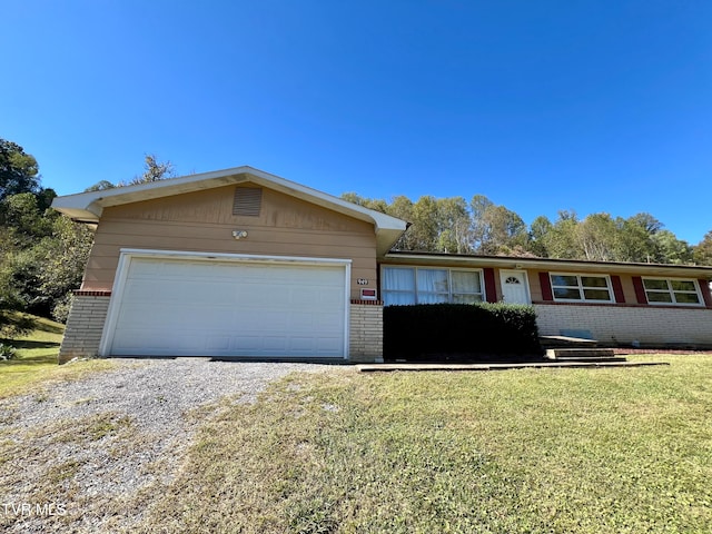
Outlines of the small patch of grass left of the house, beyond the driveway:
{"type": "Polygon", "coordinates": [[[0,398],[28,393],[36,386],[53,380],[70,380],[86,373],[111,368],[108,360],[80,362],[58,366],[57,356],[65,326],[60,323],[36,317],[36,328],[24,336],[0,339],[17,348],[17,357],[0,360],[0,398]]]}

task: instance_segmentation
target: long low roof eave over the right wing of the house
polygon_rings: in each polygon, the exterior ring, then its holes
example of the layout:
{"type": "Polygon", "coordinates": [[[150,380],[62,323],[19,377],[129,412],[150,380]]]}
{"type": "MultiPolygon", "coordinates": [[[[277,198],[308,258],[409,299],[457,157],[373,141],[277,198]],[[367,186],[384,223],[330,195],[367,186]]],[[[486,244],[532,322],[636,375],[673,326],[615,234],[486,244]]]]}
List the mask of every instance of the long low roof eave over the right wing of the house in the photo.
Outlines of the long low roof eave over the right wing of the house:
{"type": "Polygon", "coordinates": [[[540,269],[591,273],[629,273],[643,276],[684,276],[712,278],[712,267],[676,264],[640,264],[626,261],[590,261],[583,259],[552,259],[517,256],[478,256],[467,254],[424,253],[415,250],[392,250],[384,263],[402,265],[443,265],[462,267],[500,267],[503,269],[540,269]]]}

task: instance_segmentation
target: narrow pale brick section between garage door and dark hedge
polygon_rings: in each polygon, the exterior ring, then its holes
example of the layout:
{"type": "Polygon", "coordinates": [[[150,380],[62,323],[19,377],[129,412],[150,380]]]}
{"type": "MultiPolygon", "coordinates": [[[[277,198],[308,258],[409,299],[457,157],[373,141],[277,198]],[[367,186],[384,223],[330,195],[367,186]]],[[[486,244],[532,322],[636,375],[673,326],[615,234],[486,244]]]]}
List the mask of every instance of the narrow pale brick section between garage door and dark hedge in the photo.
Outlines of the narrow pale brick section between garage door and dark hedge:
{"type": "Polygon", "coordinates": [[[383,362],[383,303],[352,301],[348,356],[352,362],[383,362]]]}

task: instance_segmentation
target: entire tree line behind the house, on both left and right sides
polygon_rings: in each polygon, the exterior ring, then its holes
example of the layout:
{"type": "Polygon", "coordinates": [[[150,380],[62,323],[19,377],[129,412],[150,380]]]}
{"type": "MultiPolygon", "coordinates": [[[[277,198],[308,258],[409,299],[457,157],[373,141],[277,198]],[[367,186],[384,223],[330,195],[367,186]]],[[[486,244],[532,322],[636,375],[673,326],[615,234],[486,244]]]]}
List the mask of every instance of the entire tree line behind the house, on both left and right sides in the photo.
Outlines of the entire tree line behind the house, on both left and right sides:
{"type": "MultiPolygon", "coordinates": [[[[102,180],[87,190],[171,176],[170,161],[146,155],[141,175],[120,184],[102,180]]],[[[21,327],[17,315],[10,314],[14,310],[65,322],[71,291],[81,285],[93,233],[51,209],[56,196],[42,187],[34,157],[0,138],[0,337],[21,327]]],[[[355,192],[342,198],[412,222],[395,245],[400,250],[712,265],[712,231],[690,245],[650,214],[625,219],[592,214],[581,219],[574,211],[560,211],[554,221],[541,216],[527,226],[516,212],[484,195],[469,202],[464,197],[432,196],[386,201],[355,192]]]]}

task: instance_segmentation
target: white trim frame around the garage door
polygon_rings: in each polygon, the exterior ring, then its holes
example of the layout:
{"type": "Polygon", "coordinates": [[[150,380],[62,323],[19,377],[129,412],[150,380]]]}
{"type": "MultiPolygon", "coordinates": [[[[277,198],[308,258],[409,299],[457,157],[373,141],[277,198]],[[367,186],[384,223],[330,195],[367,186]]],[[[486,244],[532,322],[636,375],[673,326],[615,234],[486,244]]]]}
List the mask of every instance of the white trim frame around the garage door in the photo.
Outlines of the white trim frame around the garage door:
{"type": "Polygon", "coordinates": [[[126,288],[131,260],[135,258],[170,258],[190,259],[205,261],[255,261],[263,264],[291,264],[291,265],[330,265],[344,267],[344,359],[349,357],[349,325],[350,325],[350,278],[352,260],[340,258],[312,258],[301,256],[259,256],[254,254],[229,254],[229,253],[196,253],[188,250],[157,250],[140,248],[122,248],[119,254],[119,264],[116,269],[113,287],[111,288],[111,299],[109,309],[101,333],[99,343],[99,356],[110,355],[113,344],[113,333],[121,307],[121,297],[126,288]]]}

